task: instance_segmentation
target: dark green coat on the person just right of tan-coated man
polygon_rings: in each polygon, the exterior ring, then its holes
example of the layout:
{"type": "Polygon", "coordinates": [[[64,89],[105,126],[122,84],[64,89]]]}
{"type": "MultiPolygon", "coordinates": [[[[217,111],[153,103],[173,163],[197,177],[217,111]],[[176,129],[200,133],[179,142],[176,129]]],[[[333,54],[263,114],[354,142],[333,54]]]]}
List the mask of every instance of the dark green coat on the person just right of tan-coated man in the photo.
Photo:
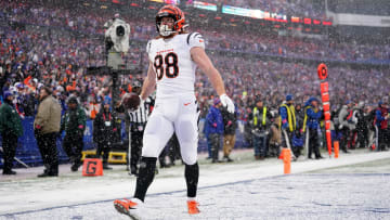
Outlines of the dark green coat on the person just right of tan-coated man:
{"type": "Polygon", "coordinates": [[[86,112],[80,106],[76,109],[68,108],[61,119],[61,132],[65,131],[65,137],[83,137],[86,121],[86,112]]]}

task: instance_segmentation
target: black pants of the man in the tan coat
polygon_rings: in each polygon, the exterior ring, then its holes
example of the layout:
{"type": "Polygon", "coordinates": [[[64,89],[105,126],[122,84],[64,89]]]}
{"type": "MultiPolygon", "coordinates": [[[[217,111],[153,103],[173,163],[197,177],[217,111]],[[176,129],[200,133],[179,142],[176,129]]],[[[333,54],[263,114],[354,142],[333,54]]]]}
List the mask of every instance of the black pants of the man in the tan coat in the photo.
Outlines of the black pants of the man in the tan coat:
{"type": "Polygon", "coordinates": [[[56,137],[56,132],[37,135],[38,148],[46,167],[44,172],[49,174],[58,174],[58,152],[55,143],[56,137]]]}

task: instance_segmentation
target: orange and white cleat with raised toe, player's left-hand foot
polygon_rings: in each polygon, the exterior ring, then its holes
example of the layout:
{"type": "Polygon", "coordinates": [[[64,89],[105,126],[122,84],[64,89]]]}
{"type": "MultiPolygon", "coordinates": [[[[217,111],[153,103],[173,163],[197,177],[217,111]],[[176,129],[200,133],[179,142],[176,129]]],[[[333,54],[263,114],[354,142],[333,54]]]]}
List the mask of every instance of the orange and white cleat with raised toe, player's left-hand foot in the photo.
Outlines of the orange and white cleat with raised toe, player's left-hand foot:
{"type": "Polygon", "coordinates": [[[140,208],[142,204],[143,203],[138,198],[114,200],[115,209],[120,213],[129,216],[133,220],[141,219],[140,208]]]}

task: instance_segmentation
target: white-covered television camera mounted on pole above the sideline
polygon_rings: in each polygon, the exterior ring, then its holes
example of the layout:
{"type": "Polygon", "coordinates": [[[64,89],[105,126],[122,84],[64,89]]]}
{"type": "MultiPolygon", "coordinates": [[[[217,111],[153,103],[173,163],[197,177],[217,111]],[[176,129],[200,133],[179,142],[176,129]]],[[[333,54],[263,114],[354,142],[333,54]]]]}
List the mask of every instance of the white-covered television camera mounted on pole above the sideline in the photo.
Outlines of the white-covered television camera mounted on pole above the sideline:
{"type": "Polygon", "coordinates": [[[138,65],[127,65],[122,60],[122,55],[129,50],[130,25],[120,20],[119,14],[115,14],[114,18],[104,24],[104,28],[106,28],[104,34],[106,65],[88,67],[87,75],[112,77],[112,104],[115,106],[119,99],[119,75],[138,75],[142,73],[142,68],[138,65]]]}

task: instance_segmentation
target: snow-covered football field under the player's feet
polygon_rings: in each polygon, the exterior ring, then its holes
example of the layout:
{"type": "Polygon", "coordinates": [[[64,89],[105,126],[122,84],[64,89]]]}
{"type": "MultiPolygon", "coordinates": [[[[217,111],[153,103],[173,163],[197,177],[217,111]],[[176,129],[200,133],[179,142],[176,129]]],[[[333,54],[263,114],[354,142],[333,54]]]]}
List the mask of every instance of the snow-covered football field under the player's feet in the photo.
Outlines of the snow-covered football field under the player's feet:
{"type": "MultiPolygon", "coordinates": [[[[186,213],[184,171],[176,166],[156,176],[145,219],[390,219],[390,152],[300,159],[288,176],[282,160],[253,161],[251,151],[235,152],[232,164],[210,165],[204,157],[202,213],[186,213]]],[[[36,178],[42,167],[2,176],[0,219],[129,219],[113,206],[133,193],[135,179],[125,166],[95,178],[68,169],[63,165],[60,177],[49,179],[36,178]]]]}

